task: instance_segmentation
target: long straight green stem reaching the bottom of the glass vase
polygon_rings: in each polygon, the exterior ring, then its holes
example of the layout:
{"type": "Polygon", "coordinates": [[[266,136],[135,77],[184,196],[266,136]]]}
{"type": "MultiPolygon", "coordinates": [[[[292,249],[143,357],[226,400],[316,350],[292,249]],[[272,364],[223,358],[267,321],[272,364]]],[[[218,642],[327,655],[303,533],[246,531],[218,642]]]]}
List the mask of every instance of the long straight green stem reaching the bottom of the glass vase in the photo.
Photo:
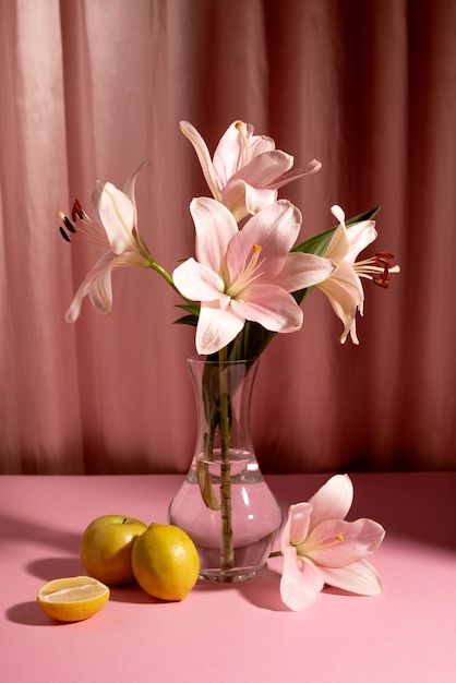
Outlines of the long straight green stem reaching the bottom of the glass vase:
{"type": "Polygon", "coordinates": [[[220,570],[227,572],[235,566],[235,549],[232,546],[232,522],[231,522],[231,470],[229,462],[229,440],[230,426],[228,415],[228,391],[225,363],[228,355],[227,349],[218,351],[219,362],[219,410],[220,410],[220,507],[221,507],[221,538],[220,538],[220,570]]]}

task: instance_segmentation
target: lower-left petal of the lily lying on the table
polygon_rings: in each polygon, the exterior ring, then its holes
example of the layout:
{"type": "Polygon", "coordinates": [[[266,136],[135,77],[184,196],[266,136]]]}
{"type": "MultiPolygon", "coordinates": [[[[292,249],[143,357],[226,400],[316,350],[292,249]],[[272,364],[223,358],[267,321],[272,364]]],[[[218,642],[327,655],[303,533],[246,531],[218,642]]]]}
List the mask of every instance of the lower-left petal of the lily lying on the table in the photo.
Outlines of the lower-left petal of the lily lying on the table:
{"type": "Polygon", "coordinates": [[[280,597],[295,611],[309,607],[324,585],[323,574],[310,560],[298,558],[295,548],[284,552],[280,597]]]}

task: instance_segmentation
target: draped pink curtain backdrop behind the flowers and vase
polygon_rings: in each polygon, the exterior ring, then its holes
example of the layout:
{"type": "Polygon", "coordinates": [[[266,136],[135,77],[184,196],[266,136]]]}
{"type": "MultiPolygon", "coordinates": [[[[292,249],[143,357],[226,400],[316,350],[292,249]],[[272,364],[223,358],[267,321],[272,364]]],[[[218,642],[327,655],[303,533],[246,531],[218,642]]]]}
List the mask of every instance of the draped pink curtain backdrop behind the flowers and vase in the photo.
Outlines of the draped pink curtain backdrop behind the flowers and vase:
{"type": "MultiPolygon", "coordinates": [[[[454,0],[0,2],[0,471],[187,470],[195,419],[154,273],[117,271],[113,309],[64,312],[98,256],[56,211],[89,204],[145,158],[140,226],[168,269],[194,252],[207,195],[178,128],[214,149],[237,119],[323,170],[281,191],[302,237],[377,204],[373,251],[403,273],[367,287],[361,345],[338,343],[314,291],[301,332],[265,352],[252,415],[264,471],[454,468],[456,3],[454,0]]],[[[367,252],[368,253],[368,252],[367,252]]]]}

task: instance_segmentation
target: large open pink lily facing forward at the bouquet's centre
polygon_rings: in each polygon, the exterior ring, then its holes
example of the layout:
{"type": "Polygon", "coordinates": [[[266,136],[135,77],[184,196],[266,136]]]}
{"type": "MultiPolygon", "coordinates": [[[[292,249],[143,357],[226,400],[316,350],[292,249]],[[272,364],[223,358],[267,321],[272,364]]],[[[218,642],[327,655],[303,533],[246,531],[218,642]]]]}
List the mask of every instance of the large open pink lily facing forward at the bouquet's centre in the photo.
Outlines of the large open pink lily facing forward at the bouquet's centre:
{"type": "Polygon", "coordinates": [[[196,260],[172,274],[183,297],[201,301],[196,327],[199,354],[214,354],[242,329],[245,320],[272,332],[295,332],[302,310],[289,293],[328,277],[334,264],[314,254],[289,253],[301,214],[281,200],[263,208],[239,230],[224,204],[194,199],[190,211],[196,228],[196,260]]]}

